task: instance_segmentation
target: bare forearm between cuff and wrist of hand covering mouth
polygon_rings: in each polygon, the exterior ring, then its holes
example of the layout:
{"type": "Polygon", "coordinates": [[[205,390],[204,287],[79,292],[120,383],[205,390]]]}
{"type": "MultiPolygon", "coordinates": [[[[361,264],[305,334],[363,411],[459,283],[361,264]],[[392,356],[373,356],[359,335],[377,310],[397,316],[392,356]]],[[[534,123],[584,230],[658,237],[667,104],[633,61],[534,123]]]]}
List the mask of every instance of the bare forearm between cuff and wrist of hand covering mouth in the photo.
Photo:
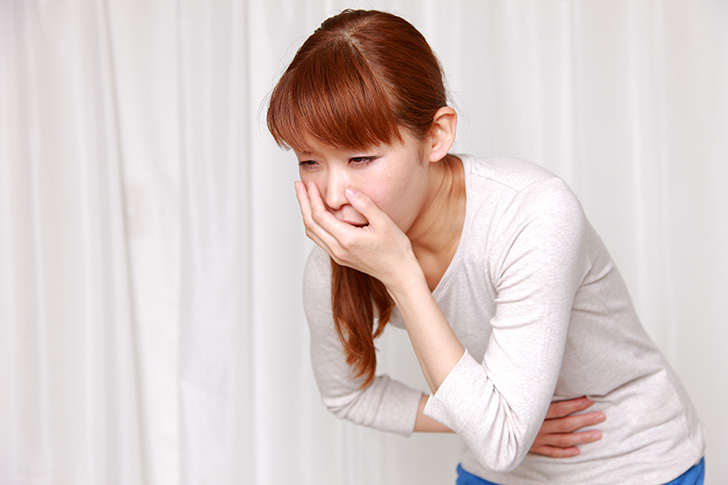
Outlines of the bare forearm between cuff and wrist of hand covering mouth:
{"type": "Polygon", "coordinates": [[[424,276],[388,290],[402,315],[420,368],[433,393],[463,356],[465,349],[432,297],[424,276]]]}

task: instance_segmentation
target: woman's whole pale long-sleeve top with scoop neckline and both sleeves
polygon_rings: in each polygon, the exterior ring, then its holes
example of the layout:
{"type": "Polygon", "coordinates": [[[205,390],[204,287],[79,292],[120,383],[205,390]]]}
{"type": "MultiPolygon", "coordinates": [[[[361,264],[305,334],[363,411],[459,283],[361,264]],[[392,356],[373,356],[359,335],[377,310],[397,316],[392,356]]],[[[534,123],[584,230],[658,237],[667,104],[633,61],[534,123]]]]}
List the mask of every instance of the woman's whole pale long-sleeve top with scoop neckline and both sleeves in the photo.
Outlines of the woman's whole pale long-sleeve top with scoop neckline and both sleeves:
{"type": "MultiPolygon", "coordinates": [[[[466,352],[425,414],[463,438],[463,467],[502,484],[660,484],[697,463],[700,421],[571,190],[522,160],[460,159],[465,222],[433,297],[466,352]],[[607,416],[603,438],[571,458],[528,454],[549,403],[584,395],[607,416]]],[[[323,403],[410,434],[421,392],[385,375],[359,388],[334,329],[330,271],[315,248],[304,307],[323,403]]],[[[404,326],[396,308],[392,324],[404,326]]]]}

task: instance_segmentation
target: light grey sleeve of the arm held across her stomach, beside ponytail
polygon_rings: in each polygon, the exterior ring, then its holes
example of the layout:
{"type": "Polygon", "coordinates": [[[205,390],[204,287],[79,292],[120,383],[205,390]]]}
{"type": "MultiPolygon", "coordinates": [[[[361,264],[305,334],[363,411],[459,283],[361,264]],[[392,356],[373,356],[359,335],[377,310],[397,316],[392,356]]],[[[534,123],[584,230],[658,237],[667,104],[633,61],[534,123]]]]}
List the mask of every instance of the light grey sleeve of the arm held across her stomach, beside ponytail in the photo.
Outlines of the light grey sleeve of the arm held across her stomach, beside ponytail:
{"type": "Polygon", "coordinates": [[[412,434],[422,392],[387,375],[364,389],[354,378],[334,328],[331,313],[331,263],[319,247],[304,273],[303,299],[311,333],[311,362],[321,401],[335,416],[382,431],[412,434]]]}

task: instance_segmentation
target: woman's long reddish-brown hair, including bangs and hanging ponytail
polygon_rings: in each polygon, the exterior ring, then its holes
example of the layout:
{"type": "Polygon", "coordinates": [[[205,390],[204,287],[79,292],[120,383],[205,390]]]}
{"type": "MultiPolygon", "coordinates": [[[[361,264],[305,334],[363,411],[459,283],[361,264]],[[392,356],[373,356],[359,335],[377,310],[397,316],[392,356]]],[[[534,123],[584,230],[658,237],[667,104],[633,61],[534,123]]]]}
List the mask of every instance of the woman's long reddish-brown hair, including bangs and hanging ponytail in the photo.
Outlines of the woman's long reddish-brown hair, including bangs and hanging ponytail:
{"type": "MultiPolygon", "coordinates": [[[[401,141],[401,129],[424,139],[446,105],[440,63],[417,29],[389,13],[345,10],[298,50],[271,94],[267,121],[283,148],[307,151],[313,137],[359,150],[401,141]]],[[[376,371],[374,339],[394,303],[379,280],[331,265],[334,325],[364,387],[376,371]]]]}

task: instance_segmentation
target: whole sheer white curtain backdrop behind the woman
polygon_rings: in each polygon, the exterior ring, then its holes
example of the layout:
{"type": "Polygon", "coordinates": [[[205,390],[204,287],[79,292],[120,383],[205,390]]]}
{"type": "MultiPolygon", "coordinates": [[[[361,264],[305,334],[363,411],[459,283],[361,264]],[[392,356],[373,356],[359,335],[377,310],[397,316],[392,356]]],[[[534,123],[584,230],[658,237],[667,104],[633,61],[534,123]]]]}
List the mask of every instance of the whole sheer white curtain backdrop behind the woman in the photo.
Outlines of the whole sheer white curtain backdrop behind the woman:
{"type": "Polygon", "coordinates": [[[338,421],[310,370],[265,98],[346,7],[430,40],[456,151],[571,184],[728,482],[728,2],[0,0],[0,484],[454,483],[456,437],[338,421]]]}

